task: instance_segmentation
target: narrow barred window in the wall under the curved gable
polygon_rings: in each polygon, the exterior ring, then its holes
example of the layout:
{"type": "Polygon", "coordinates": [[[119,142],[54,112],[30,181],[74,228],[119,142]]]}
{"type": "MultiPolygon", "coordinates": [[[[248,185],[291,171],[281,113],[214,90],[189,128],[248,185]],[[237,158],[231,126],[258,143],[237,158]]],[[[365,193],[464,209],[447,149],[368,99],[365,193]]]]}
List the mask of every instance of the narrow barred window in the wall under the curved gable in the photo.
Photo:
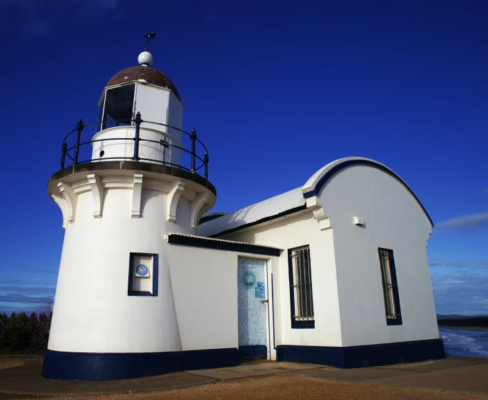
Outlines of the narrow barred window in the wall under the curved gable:
{"type": "Polygon", "coordinates": [[[378,255],[380,256],[384,311],[387,316],[387,325],[402,325],[393,250],[378,249],[378,255]]]}

